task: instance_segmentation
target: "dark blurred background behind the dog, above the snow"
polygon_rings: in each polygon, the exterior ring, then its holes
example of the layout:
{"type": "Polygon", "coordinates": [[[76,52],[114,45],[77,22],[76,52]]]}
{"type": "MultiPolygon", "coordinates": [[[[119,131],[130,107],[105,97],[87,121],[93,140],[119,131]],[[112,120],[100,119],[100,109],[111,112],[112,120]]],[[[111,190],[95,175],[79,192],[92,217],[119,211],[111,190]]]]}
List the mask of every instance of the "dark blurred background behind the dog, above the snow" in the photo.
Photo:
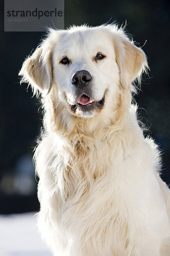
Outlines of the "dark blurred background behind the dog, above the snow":
{"type": "MultiPolygon", "coordinates": [[[[37,211],[37,182],[33,148],[42,126],[38,100],[18,72],[24,58],[40,42],[43,32],[3,32],[0,2],[0,213],[37,211]],[[39,112],[39,113],[38,113],[39,112]]],[[[159,144],[163,157],[161,177],[170,183],[170,2],[168,0],[65,0],[65,28],[88,23],[96,26],[127,20],[127,32],[148,56],[149,76],[135,96],[142,121],[159,144]],[[146,44],[145,41],[147,40],[146,44]],[[151,132],[152,131],[152,132],[151,132]]]]}

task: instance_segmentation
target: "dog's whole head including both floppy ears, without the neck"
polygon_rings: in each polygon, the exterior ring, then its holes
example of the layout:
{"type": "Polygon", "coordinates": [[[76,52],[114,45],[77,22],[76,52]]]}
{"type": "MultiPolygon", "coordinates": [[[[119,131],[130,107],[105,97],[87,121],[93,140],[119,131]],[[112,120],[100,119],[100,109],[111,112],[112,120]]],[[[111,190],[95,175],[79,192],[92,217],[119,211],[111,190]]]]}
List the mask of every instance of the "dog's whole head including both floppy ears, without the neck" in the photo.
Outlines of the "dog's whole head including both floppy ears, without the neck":
{"type": "Polygon", "coordinates": [[[118,90],[133,90],[146,66],[144,52],[122,29],[80,26],[51,29],[19,75],[43,97],[57,93],[53,97],[74,116],[93,117],[112,104],[118,90]]]}

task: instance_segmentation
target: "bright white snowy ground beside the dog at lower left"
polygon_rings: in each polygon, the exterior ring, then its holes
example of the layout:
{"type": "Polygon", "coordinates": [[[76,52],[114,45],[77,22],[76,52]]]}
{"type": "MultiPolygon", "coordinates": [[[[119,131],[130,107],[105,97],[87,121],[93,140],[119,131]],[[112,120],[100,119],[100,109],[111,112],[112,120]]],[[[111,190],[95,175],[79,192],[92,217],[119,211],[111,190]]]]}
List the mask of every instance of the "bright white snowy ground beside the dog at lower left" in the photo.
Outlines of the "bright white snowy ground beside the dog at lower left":
{"type": "Polygon", "coordinates": [[[0,256],[52,256],[40,239],[33,212],[0,215],[0,256]]]}

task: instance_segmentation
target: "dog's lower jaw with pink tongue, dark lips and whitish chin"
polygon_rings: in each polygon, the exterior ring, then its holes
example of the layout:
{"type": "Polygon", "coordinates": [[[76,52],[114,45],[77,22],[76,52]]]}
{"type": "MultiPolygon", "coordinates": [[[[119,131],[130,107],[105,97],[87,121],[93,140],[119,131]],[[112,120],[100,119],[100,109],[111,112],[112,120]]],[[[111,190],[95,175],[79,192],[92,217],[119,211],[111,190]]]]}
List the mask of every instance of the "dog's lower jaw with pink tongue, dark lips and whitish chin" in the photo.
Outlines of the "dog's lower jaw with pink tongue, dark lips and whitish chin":
{"type": "MultiPolygon", "coordinates": [[[[86,98],[81,102],[80,100],[77,101],[75,105],[71,105],[70,107],[70,113],[74,116],[79,116],[79,117],[85,117],[85,118],[91,118],[95,116],[97,113],[99,113],[102,108],[104,108],[105,105],[105,94],[103,98],[100,101],[94,101],[87,95],[82,95],[81,97],[86,98]],[[81,104],[83,103],[83,104],[81,104]]],[[[79,97],[79,98],[81,98],[79,97]]]]}

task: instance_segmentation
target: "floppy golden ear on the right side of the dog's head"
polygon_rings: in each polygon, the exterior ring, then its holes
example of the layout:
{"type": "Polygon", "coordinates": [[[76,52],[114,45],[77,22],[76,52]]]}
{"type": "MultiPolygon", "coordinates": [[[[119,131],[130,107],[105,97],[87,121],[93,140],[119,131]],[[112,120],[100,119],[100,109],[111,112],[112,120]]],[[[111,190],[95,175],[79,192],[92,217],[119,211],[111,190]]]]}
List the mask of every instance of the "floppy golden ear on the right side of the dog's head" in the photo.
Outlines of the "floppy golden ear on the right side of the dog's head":
{"type": "Polygon", "coordinates": [[[119,38],[114,38],[114,47],[122,87],[135,91],[131,83],[135,79],[140,81],[142,72],[146,70],[146,55],[129,41],[124,32],[119,38]]]}

